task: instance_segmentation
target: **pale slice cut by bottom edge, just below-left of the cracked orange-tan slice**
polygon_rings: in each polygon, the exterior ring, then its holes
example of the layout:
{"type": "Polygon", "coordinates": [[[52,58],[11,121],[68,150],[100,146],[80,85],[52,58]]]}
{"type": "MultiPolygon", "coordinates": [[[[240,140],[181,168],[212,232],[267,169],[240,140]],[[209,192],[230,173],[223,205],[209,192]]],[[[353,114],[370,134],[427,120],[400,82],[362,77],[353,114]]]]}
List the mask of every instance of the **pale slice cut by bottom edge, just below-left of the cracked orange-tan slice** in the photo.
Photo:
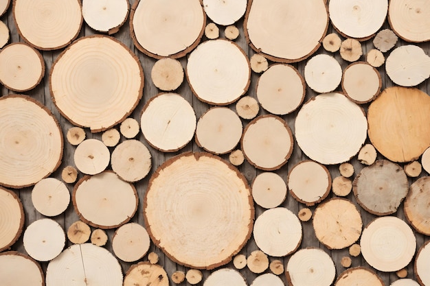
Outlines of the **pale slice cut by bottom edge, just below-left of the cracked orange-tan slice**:
{"type": "Polygon", "coordinates": [[[293,254],[286,265],[286,279],[293,286],[330,286],[335,280],[335,263],[319,248],[305,248],[293,254]]]}

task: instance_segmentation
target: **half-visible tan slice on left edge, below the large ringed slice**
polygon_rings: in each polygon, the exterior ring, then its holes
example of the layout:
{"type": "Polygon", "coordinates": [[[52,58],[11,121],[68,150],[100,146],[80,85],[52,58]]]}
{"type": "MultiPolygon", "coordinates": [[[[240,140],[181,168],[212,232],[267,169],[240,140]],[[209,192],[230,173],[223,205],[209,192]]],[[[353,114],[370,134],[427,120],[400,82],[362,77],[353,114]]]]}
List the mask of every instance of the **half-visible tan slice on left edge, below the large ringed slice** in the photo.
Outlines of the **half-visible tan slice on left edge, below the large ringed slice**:
{"type": "Polygon", "coordinates": [[[0,187],[0,252],[18,240],[23,226],[24,208],[21,200],[13,191],[0,187]]]}

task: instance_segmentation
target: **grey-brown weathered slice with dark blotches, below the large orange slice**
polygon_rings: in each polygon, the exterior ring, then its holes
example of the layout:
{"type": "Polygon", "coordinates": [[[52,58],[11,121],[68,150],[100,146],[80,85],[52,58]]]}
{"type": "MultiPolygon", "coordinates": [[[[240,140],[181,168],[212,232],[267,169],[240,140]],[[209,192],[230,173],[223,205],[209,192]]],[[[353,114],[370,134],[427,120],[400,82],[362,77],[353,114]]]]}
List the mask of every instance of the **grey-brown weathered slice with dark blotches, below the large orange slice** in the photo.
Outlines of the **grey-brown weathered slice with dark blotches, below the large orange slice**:
{"type": "Polygon", "coordinates": [[[403,168],[389,160],[377,160],[355,177],[352,191],[357,202],[374,215],[396,213],[407,195],[408,180],[403,168]]]}

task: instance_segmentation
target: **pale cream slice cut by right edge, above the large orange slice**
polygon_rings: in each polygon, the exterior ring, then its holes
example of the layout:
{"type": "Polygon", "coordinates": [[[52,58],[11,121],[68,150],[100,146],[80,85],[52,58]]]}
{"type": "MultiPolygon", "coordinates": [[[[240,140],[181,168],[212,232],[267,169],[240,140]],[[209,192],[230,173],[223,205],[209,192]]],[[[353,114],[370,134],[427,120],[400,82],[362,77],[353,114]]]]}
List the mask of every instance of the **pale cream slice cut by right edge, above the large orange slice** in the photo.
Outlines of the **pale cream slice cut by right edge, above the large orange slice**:
{"type": "Polygon", "coordinates": [[[416,45],[394,49],[385,61],[389,78],[400,86],[416,86],[430,77],[430,57],[416,45]]]}

